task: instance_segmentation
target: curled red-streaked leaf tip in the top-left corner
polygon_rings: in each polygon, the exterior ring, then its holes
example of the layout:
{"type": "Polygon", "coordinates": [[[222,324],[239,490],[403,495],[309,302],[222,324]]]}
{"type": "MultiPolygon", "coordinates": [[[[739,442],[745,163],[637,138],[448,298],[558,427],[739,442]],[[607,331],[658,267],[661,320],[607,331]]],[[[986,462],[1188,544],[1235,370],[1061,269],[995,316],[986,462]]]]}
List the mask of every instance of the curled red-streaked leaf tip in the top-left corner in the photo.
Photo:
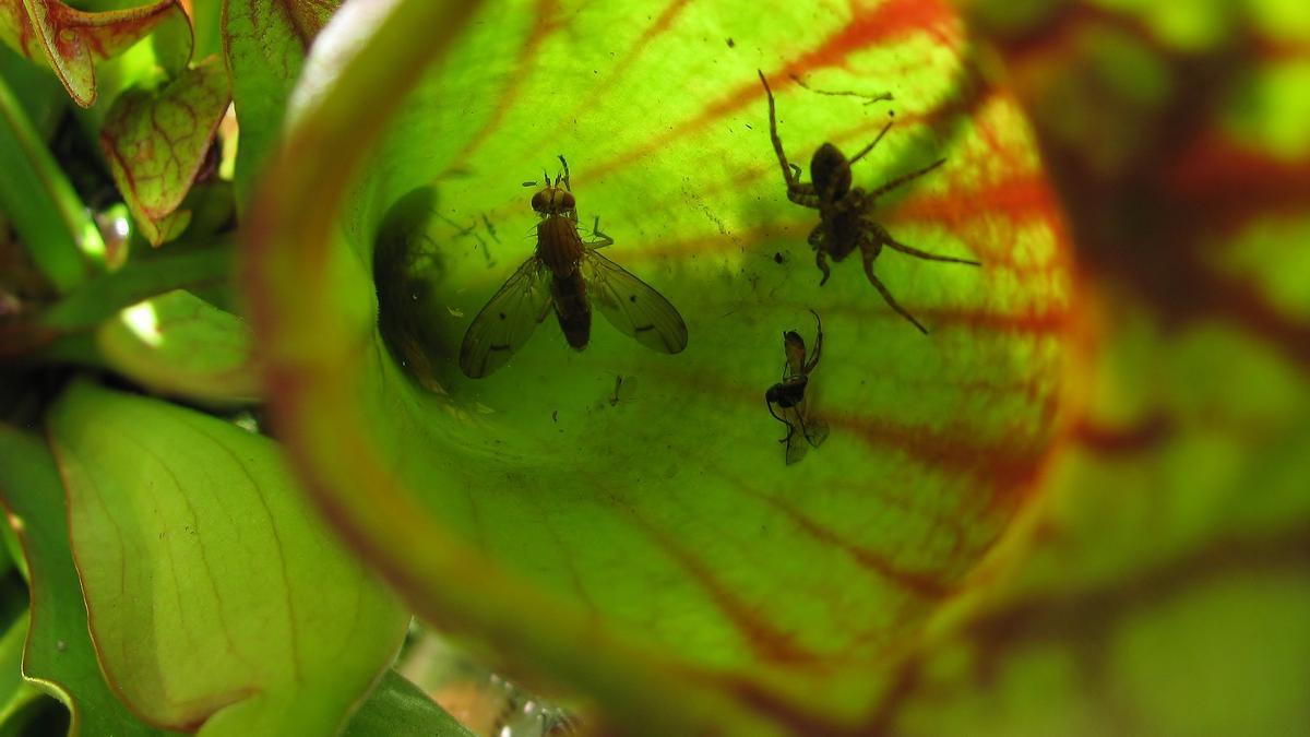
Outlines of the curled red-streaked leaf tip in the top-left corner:
{"type": "Polygon", "coordinates": [[[179,0],[88,12],[59,0],[0,0],[0,39],[54,68],[73,101],[96,102],[96,64],[145,38],[164,22],[187,24],[179,0]]]}

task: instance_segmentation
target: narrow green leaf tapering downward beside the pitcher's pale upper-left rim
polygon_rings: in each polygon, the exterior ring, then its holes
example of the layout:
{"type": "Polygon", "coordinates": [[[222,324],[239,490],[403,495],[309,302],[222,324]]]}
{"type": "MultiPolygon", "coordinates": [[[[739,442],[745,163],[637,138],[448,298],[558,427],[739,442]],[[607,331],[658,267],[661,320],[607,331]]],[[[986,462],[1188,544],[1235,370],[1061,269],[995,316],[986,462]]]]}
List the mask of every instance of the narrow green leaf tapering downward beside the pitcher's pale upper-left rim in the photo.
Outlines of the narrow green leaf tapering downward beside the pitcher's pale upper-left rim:
{"type": "Polygon", "coordinates": [[[291,88],[305,50],[341,3],[337,0],[224,0],[223,45],[232,70],[232,96],[241,121],[237,148],[237,202],[282,132],[291,88]]]}

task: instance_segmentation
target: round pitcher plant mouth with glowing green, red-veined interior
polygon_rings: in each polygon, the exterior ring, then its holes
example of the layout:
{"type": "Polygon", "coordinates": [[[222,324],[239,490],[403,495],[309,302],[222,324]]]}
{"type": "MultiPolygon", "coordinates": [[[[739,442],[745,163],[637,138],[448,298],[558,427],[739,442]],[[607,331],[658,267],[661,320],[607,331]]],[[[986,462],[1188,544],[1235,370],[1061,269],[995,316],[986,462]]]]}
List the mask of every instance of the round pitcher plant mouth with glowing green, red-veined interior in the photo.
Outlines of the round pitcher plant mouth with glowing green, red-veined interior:
{"type": "MultiPolygon", "coordinates": [[[[874,34],[887,12],[844,21],[861,38],[850,59],[878,66],[901,54],[874,34]]],[[[938,12],[904,20],[900,34],[945,28],[951,14],[938,12]]],[[[326,49],[335,28],[320,41],[326,49]]],[[[390,89],[384,104],[379,89],[351,88],[341,67],[313,101],[393,115],[385,129],[364,126],[388,131],[376,147],[343,126],[333,149],[418,163],[365,173],[334,189],[329,207],[329,174],[295,155],[325,134],[309,123],[312,108],[299,110],[291,155],[263,182],[275,206],[252,219],[252,303],[261,334],[283,346],[270,368],[279,437],[320,505],[424,616],[483,637],[486,622],[506,623],[495,637],[511,637],[523,669],[550,660],[566,679],[650,717],[662,709],[627,688],[677,692],[692,704],[676,717],[683,728],[720,713],[758,720],[728,682],[790,703],[800,683],[879,667],[887,643],[920,629],[1031,498],[1060,431],[1070,254],[1014,102],[959,56],[917,62],[896,94],[895,135],[858,160],[859,191],[886,193],[878,218],[895,243],[975,264],[879,260],[884,283],[933,325],[925,337],[859,266],[834,264],[827,283],[806,266],[817,216],[789,202],[778,178],[753,66],[692,100],[671,79],[655,84],[645,71],[655,62],[642,56],[645,66],[604,80],[608,92],[588,102],[595,113],[578,115],[580,104],[557,94],[561,68],[580,75],[593,63],[574,54],[554,71],[524,66],[495,79],[469,126],[441,106],[462,84],[461,60],[486,56],[479,45],[493,42],[478,21],[469,28],[407,96],[390,89]],[[960,89],[976,98],[933,102],[960,89]],[[663,101],[673,125],[624,111],[638,100],[663,101]],[[627,122],[616,129],[607,111],[627,122]],[[865,184],[943,156],[939,173],[903,177],[904,188],[865,184]],[[553,165],[545,186],[519,173],[553,165]],[[1023,198],[1001,195],[1017,188],[1023,198]],[[299,222],[309,198],[345,227],[299,222]],[[582,244],[567,257],[532,229],[555,222],[582,244]],[[500,237],[517,232],[536,235],[500,237]],[[779,264],[782,253],[793,257],[779,264]],[[308,294],[279,286],[291,273],[308,294]],[[1018,291],[1000,299],[1002,283],[1018,291]],[[588,303],[610,324],[574,341],[567,316],[588,303]],[[776,336],[802,329],[811,309],[823,315],[824,363],[804,391],[807,417],[829,431],[789,466],[758,399],[778,380],[776,336]],[[570,348],[578,342],[586,350],[570,348]],[[629,387],[622,400],[617,378],[629,387]],[[988,409],[1001,405],[1003,417],[988,409]],[[363,488],[367,505],[347,490],[363,488]],[[841,599],[842,610],[815,607],[841,599]],[[524,610],[549,612],[552,631],[508,635],[524,610]],[[587,662],[554,662],[582,643],[587,662]],[[592,658],[596,649],[608,654],[592,658]],[[718,686],[693,687],[688,673],[718,686]]],[[[495,42],[562,38],[521,33],[495,42]]],[[[667,33],[694,46],[683,30],[667,33]]],[[[734,38],[739,50],[749,37],[734,38]]],[[[359,63],[373,52],[363,49],[359,63]]],[[[824,139],[855,151],[883,127],[883,111],[858,100],[765,76],[796,156],[824,139]]],[[[811,87],[867,87],[829,79],[811,87]]],[[[795,405],[785,410],[798,418],[795,405]]],[[[842,696],[857,711],[876,696],[872,685],[857,691],[842,696]]],[[[828,706],[787,708],[821,720],[828,706]]]]}

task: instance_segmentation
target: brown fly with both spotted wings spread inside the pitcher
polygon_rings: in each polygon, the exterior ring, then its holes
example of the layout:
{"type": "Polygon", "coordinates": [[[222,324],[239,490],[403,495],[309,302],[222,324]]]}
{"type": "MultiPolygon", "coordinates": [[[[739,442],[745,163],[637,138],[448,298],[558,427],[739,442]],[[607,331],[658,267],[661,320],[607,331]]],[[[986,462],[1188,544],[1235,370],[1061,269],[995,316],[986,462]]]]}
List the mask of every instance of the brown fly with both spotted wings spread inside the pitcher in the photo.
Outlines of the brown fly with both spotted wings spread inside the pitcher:
{"type": "MultiPolygon", "coordinates": [[[[460,370],[473,379],[495,371],[528,341],[532,330],[554,308],[569,345],[587,348],[591,338],[591,306],[618,332],[660,353],[686,348],[686,324],[664,296],[599,253],[614,243],[592,226],[597,240],[584,243],[578,233],[578,206],[563,170],[545,177],[545,186],[532,195],[537,223],[537,249],[491,296],[464,334],[460,370]],[[561,182],[563,186],[561,188],[561,182]]],[[[524,182],[536,186],[536,182],[524,182]]]]}

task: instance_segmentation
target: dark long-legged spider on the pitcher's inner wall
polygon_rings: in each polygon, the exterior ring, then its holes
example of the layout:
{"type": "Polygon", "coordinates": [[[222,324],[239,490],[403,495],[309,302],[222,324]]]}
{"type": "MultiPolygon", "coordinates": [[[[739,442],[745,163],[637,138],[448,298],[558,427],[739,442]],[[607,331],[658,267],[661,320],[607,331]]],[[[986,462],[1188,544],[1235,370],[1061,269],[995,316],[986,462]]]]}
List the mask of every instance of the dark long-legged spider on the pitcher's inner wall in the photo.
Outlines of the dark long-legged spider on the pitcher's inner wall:
{"type": "Polygon", "coordinates": [[[819,224],[815,229],[810,232],[810,248],[815,250],[815,264],[819,270],[823,271],[823,279],[819,285],[823,286],[828,281],[828,257],[831,256],[833,261],[841,261],[849,256],[857,248],[865,260],[865,275],[869,277],[870,283],[878,290],[887,304],[895,309],[901,317],[909,320],[916,328],[922,333],[927,333],[927,329],[920,324],[909,312],[905,311],[900,303],[892,296],[887,287],[878,279],[874,274],[874,260],[882,253],[883,247],[891,248],[893,250],[900,250],[901,253],[914,256],[916,258],[924,258],[927,261],[946,261],[950,264],[968,264],[971,266],[979,266],[977,261],[971,261],[968,258],[954,258],[950,256],[938,256],[935,253],[927,253],[917,248],[905,245],[891,236],[886,228],[875,223],[870,214],[878,203],[878,198],[892,191],[929,172],[941,167],[946,163],[946,159],[938,159],[922,169],[916,169],[908,174],[901,174],[872,191],[865,191],[858,186],[852,186],[852,164],[859,161],[870,151],[878,146],[878,142],[887,135],[888,129],[892,127],[892,122],[888,121],[883,130],[878,132],[878,138],[872,143],[859,149],[852,159],[837,149],[836,146],[831,143],[824,143],[815,151],[814,157],[810,160],[810,184],[800,182],[800,167],[787,161],[786,153],[782,152],[782,139],[778,138],[778,122],[777,114],[774,111],[773,90],[769,89],[769,81],[764,79],[764,72],[760,72],[760,81],[764,83],[764,92],[769,97],[769,135],[773,138],[773,149],[778,153],[778,164],[782,167],[782,178],[787,182],[787,199],[795,202],[796,205],[810,207],[819,211],[819,224]]]}

